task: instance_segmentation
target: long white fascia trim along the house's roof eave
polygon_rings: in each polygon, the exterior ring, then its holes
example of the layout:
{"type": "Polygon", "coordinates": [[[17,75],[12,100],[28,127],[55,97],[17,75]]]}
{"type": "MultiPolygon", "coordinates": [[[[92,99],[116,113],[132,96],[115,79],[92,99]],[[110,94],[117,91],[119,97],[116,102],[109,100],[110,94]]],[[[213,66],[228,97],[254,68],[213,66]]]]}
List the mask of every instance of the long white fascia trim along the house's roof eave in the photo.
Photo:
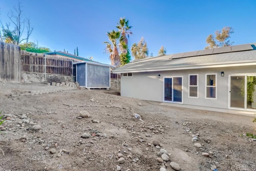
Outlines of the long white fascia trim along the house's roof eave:
{"type": "MultiPolygon", "coordinates": [[[[161,67],[161,68],[144,68],[144,69],[130,69],[130,70],[121,70],[121,71],[112,71],[113,73],[120,74],[123,72],[153,72],[153,71],[172,71],[172,70],[190,70],[190,69],[201,69],[201,68],[222,68],[222,67],[231,67],[231,66],[252,66],[256,65],[256,60],[252,60],[252,63],[245,63],[247,61],[240,61],[241,63],[238,64],[220,64],[219,63],[212,63],[212,65],[204,65],[202,66],[198,65],[184,65],[184,66],[167,66],[167,67],[161,67]],[[244,63],[243,63],[244,62],[244,63]]],[[[224,63],[224,62],[222,62],[224,63]]]]}

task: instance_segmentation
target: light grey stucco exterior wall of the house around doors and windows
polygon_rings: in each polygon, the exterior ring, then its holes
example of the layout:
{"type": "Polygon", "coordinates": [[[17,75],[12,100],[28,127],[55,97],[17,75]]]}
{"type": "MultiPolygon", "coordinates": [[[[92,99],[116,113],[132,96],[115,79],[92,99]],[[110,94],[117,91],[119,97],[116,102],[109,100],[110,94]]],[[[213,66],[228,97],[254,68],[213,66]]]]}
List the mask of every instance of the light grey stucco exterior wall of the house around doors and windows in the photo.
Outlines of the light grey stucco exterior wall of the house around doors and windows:
{"type": "Polygon", "coordinates": [[[132,77],[121,76],[121,96],[163,101],[163,77],[182,76],[183,104],[228,109],[229,75],[247,73],[256,74],[256,66],[132,73],[132,77]],[[224,77],[221,77],[220,72],[222,71],[224,72],[224,77]],[[217,99],[206,99],[205,77],[206,74],[214,73],[217,74],[217,99]],[[158,74],[161,75],[160,78],[158,78],[158,74]],[[188,97],[188,74],[198,74],[198,98],[188,97]]]}

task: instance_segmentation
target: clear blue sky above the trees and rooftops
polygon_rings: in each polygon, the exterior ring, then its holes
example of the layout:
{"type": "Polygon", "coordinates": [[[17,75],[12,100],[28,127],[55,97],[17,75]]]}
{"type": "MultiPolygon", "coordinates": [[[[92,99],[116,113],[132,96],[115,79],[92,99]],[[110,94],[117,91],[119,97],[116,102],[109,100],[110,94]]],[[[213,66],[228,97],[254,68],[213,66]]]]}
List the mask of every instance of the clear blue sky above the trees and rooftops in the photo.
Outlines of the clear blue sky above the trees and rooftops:
{"type": "MultiPolygon", "coordinates": [[[[0,0],[0,20],[17,0],[0,0]]],[[[149,52],[157,56],[164,46],[167,54],[204,49],[206,37],[224,26],[234,28],[234,44],[256,42],[255,0],[21,0],[23,14],[34,31],[30,41],[51,50],[65,50],[110,64],[104,54],[107,31],[116,29],[126,17],[134,35],[129,48],[143,36],[149,52]]]]}

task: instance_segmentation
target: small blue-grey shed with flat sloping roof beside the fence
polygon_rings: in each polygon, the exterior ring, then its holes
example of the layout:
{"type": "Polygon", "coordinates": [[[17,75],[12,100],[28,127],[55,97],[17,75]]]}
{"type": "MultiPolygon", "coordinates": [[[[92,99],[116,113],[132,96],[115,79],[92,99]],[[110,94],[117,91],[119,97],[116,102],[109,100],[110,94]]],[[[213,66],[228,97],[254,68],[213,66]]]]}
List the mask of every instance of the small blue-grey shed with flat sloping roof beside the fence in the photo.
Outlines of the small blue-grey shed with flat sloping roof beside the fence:
{"type": "Polygon", "coordinates": [[[89,60],[73,62],[72,66],[80,87],[110,88],[110,68],[114,66],[89,60]]]}

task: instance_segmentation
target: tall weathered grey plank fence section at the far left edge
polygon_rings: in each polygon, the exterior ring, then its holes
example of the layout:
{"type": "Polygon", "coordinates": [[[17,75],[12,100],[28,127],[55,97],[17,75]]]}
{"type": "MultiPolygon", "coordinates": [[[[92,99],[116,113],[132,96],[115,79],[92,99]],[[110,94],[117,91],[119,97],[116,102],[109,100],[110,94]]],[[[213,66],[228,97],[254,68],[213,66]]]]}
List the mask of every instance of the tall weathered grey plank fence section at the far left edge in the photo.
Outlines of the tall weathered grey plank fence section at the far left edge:
{"type": "Polygon", "coordinates": [[[21,81],[20,46],[0,42],[0,81],[21,81]]]}

